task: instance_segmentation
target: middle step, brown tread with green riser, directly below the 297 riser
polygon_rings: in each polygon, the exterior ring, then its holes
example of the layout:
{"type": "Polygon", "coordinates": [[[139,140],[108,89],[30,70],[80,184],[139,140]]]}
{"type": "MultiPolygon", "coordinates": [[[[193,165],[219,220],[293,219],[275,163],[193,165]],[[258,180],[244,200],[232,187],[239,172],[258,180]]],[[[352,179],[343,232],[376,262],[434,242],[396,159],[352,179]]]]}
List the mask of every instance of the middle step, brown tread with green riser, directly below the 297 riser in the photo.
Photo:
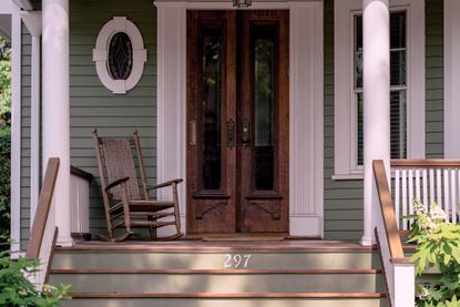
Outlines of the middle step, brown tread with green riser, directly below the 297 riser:
{"type": "Polygon", "coordinates": [[[382,293],[377,269],[53,269],[51,284],[76,293],[382,293]]]}

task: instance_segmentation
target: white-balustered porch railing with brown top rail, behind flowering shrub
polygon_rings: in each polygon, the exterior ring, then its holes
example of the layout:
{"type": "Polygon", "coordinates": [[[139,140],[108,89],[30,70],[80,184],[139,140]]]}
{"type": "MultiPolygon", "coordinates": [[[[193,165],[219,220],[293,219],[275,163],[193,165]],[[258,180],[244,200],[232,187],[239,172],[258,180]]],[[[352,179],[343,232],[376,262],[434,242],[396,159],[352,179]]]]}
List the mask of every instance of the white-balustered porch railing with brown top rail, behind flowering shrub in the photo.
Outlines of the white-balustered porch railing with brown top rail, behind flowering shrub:
{"type": "Polygon", "coordinates": [[[413,214],[413,198],[426,209],[436,202],[447,214],[447,222],[459,222],[460,160],[391,160],[395,173],[393,201],[400,231],[408,231],[413,214]]]}

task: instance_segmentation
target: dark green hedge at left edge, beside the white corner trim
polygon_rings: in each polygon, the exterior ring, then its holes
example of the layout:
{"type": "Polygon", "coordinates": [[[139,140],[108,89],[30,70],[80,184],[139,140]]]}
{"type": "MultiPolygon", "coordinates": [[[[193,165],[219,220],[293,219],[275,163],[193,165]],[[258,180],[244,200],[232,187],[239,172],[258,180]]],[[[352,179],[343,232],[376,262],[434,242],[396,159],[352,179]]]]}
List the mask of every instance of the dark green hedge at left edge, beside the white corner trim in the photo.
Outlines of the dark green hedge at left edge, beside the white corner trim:
{"type": "MultiPolygon", "coordinates": [[[[0,242],[10,238],[10,129],[0,130],[0,242]]],[[[0,245],[0,250],[8,249],[0,245]]]]}

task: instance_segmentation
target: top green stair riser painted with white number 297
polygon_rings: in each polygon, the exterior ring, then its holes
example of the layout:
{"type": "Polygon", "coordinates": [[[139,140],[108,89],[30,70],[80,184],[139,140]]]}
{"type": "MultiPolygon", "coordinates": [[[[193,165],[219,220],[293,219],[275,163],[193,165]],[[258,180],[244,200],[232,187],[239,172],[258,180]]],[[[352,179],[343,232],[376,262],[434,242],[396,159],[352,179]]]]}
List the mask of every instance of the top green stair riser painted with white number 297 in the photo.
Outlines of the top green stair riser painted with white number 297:
{"type": "Polygon", "coordinates": [[[380,268],[376,253],[57,253],[53,268],[380,268]]]}

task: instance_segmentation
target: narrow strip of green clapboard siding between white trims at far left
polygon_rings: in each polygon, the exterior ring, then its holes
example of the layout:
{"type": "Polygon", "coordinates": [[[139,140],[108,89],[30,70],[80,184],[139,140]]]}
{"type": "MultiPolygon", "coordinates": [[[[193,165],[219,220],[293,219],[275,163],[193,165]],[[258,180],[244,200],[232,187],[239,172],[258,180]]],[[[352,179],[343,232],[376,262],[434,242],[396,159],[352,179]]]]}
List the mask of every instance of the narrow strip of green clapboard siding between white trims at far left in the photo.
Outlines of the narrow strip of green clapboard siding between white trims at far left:
{"type": "Polygon", "coordinates": [[[22,25],[21,71],[21,249],[27,247],[30,233],[30,71],[31,44],[29,31],[22,25]]]}

